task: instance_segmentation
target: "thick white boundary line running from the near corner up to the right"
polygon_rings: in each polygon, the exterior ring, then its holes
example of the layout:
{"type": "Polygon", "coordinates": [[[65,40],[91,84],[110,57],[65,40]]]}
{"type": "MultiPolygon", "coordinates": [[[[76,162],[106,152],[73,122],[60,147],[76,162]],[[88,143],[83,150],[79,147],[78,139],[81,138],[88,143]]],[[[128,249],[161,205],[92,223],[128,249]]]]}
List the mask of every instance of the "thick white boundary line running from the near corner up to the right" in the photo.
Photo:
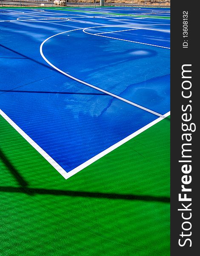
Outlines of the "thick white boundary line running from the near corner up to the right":
{"type": "Polygon", "coordinates": [[[123,145],[124,143],[128,142],[129,140],[133,139],[134,137],[136,137],[138,134],[141,134],[143,131],[146,131],[147,129],[149,129],[151,126],[157,124],[158,122],[160,122],[161,120],[163,120],[164,118],[166,118],[167,116],[170,115],[170,111],[167,112],[166,114],[164,114],[162,117],[159,117],[157,119],[155,119],[154,121],[150,122],[148,125],[145,125],[143,128],[140,128],[139,130],[135,131],[134,133],[132,133],[131,135],[127,136],[126,138],[124,138],[123,140],[120,140],[119,142],[115,143],[114,145],[112,145],[111,147],[107,148],[106,150],[102,151],[101,153],[97,154],[96,156],[92,157],[91,159],[87,160],[85,163],[82,163],[80,166],[77,166],[76,168],[74,168],[73,170],[71,170],[70,172],[67,173],[67,177],[66,179],[68,179],[69,177],[73,176],[74,174],[76,174],[77,172],[80,172],[81,170],[83,170],[84,168],[86,168],[87,166],[91,165],[92,163],[96,162],[97,160],[99,160],[101,157],[104,157],[106,154],[109,154],[111,151],[113,151],[114,149],[120,147],[121,145],[123,145]]]}

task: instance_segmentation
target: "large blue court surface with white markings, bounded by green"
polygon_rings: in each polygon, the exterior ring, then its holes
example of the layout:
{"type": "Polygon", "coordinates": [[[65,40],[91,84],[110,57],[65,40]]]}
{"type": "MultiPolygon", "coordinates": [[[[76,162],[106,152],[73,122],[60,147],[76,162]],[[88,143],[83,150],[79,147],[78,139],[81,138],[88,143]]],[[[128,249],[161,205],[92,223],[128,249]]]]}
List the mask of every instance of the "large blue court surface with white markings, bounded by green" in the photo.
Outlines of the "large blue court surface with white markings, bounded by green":
{"type": "Polygon", "coordinates": [[[169,114],[169,15],[163,8],[0,9],[2,115],[70,177],[169,114]]]}

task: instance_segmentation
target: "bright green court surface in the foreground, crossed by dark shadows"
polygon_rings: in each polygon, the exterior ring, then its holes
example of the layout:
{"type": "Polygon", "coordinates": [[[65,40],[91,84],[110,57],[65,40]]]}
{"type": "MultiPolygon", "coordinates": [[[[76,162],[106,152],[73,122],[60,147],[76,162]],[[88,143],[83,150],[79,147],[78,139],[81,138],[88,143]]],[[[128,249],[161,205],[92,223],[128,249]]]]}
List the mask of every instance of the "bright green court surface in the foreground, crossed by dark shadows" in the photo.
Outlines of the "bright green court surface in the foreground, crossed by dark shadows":
{"type": "Polygon", "coordinates": [[[169,256],[169,128],[65,180],[0,116],[0,255],[169,256]]]}

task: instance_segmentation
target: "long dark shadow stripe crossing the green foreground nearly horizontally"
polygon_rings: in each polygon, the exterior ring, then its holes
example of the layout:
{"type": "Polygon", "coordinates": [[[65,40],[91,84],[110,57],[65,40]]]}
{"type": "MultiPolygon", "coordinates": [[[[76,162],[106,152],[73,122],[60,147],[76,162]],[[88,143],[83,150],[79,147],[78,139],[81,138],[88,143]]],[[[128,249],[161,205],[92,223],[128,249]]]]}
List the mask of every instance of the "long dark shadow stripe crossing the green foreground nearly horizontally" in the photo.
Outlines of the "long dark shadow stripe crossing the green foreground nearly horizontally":
{"type": "MultiPolygon", "coordinates": [[[[34,195],[63,195],[73,197],[85,197],[85,198],[106,198],[106,199],[123,199],[123,200],[140,200],[140,201],[156,201],[162,203],[169,203],[170,198],[162,196],[151,196],[151,195],[129,195],[129,194],[114,194],[114,193],[100,193],[100,192],[83,192],[83,191],[71,191],[71,190],[60,190],[60,189],[40,189],[40,188],[27,188],[28,194],[34,195]]],[[[1,192],[14,192],[24,193],[24,188],[11,187],[11,186],[0,186],[1,192]]]]}

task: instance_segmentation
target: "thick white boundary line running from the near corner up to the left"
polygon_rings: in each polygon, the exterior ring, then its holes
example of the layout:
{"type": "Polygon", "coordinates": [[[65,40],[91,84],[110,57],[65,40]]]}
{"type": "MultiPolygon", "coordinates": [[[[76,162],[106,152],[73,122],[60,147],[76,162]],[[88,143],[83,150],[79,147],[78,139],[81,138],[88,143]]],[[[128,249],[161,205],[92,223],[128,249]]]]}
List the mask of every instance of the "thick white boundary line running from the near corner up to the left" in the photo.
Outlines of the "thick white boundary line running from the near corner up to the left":
{"type": "Polygon", "coordinates": [[[67,172],[55,161],[52,157],[49,156],[39,145],[37,145],[34,140],[32,140],[29,135],[27,135],[15,122],[13,122],[9,116],[6,115],[0,109],[0,115],[34,148],[40,153],[50,164],[53,166],[57,172],[59,172],[64,178],[67,177],[67,172]]]}

